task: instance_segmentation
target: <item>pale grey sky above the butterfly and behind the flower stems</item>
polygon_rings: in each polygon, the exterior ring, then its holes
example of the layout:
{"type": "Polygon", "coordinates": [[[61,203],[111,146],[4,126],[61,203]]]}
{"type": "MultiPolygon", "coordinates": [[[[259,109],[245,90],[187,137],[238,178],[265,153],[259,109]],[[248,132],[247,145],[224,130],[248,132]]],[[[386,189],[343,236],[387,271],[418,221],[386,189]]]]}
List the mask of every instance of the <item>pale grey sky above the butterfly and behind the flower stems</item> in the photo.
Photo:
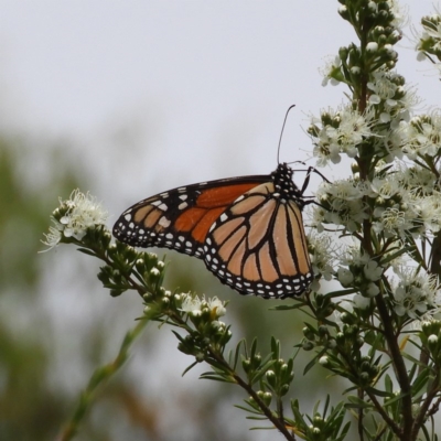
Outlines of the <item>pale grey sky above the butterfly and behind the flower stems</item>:
{"type": "MultiPolygon", "coordinates": [[[[415,23],[433,8],[402,4],[415,23]]],[[[319,67],[355,37],[330,0],[0,7],[1,127],[71,137],[116,212],[144,197],[137,189],[269,173],[291,104],[281,159],[308,159],[306,115],[338,105],[345,92],[323,88],[319,67]]],[[[412,47],[399,44],[399,72],[437,105],[438,77],[412,47]]]]}

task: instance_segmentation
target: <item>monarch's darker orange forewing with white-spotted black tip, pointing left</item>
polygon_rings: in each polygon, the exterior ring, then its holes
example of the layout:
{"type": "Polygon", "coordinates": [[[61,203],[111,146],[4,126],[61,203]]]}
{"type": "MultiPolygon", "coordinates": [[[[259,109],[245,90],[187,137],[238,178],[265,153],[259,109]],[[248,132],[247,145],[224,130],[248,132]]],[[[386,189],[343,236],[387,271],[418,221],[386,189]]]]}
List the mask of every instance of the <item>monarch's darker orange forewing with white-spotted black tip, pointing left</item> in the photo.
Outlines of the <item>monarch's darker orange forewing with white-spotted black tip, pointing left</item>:
{"type": "Polygon", "coordinates": [[[126,209],[114,236],[136,247],[165,247],[203,258],[213,223],[240,195],[268,175],[232,178],[170,190],[126,209]]]}

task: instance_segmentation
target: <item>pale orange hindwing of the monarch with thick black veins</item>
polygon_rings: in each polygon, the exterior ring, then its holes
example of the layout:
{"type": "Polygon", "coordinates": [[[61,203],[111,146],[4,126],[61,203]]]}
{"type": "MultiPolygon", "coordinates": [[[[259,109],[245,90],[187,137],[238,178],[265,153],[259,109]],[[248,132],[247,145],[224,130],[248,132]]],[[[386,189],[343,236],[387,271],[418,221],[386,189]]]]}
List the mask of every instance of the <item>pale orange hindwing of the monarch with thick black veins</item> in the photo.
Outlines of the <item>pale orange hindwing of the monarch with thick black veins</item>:
{"type": "Polygon", "coordinates": [[[301,207],[275,182],[251,189],[213,224],[204,245],[207,268],[241,294],[300,295],[313,280],[301,207]]]}

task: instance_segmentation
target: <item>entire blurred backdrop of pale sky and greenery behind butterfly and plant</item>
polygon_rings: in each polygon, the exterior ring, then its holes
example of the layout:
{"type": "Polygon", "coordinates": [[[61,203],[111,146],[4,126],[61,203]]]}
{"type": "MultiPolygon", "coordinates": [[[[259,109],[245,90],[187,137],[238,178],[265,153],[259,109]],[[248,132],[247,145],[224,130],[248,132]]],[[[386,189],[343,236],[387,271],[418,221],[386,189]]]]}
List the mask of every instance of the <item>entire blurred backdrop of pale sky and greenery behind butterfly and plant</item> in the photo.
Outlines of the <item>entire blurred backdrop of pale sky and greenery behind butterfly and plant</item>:
{"type": "MultiPolygon", "coordinates": [[[[432,10],[429,1],[402,3],[415,24],[432,10]]],[[[37,254],[58,196],[90,191],[110,226],[157,192],[269,173],[291,104],[280,160],[313,164],[309,116],[344,100],[342,86],[321,86],[319,67],[355,39],[338,4],[0,0],[0,440],[56,439],[94,369],[112,359],[142,313],[135,293],[110,298],[96,279],[99,262],[74,247],[37,254]]],[[[416,62],[410,28],[406,34],[398,71],[423,110],[439,104],[439,78],[416,62]]],[[[275,335],[291,354],[304,316],[236,294],[202,261],[166,257],[165,286],[229,301],[225,321],[236,341],[257,335],[266,352],[275,335]]],[[[170,329],[151,325],[76,439],[276,437],[248,431],[255,424],[233,407],[246,397],[198,380],[205,368],[181,377],[192,362],[170,329]]],[[[326,373],[315,367],[305,383],[304,364],[299,358],[291,396],[311,411],[325,398],[326,373]]],[[[342,388],[334,385],[335,399],[342,388]]]]}

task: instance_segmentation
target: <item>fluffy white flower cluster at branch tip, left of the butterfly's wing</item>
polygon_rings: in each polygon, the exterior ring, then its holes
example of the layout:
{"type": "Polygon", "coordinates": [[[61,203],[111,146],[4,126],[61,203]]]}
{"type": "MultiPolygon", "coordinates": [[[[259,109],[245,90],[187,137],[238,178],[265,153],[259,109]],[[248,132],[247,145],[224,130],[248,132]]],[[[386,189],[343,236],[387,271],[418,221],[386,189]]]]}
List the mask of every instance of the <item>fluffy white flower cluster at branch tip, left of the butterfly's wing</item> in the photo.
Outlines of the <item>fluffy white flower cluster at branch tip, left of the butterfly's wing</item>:
{"type": "Polygon", "coordinates": [[[107,218],[107,211],[97,203],[94,196],[75,190],[68,200],[60,198],[60,207],[52,215],[54,226],[50,227],[49,234],[44,235],[45,240],[42,241],[49,246],[47,250],[50,250],[61,243],[63,236],[80,240],[88,228],[104,225],[107,218]]]}

